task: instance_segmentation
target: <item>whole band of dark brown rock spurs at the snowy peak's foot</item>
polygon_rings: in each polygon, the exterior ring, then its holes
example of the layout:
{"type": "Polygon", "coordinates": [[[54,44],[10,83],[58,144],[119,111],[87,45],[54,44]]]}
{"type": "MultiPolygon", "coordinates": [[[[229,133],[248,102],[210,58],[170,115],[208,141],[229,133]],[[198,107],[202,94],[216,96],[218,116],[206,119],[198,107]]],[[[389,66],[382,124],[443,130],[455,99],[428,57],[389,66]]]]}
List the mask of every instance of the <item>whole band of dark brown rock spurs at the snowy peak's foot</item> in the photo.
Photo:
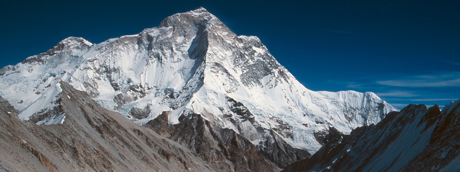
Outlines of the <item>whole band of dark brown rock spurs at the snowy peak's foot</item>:
{"type": "MultiPolygon", "coordinates": [[[[256,147],[242,135],[232,129],[222,128],[215,120],[205,120],[201,115],[190,113],[180,117],[178,124],[170,124],[169,112],[147,122],[144,127],[151,128],[161,136],[172,139],[201,155],[212,164],[219,164],[219,171],[225,172],[269,172],[276,165],[282,167],[309,155],[305,150],[290,147],[281,138],[266,140],[270,149],[266,152],[256,147]],[[273,145],[276,144],[276,145],[273,145]],[[270,151],[268,151],[270,150],[270,151]],[[270,160],[275,164],[271,163],[270,160]]],[[[259,128],[263,131],[263,128],[259,128]]],[[[272,133],[273,134],[273,133],[272,133]]],[[[278,137],[273,134],[272,137],[278,137]]]]}

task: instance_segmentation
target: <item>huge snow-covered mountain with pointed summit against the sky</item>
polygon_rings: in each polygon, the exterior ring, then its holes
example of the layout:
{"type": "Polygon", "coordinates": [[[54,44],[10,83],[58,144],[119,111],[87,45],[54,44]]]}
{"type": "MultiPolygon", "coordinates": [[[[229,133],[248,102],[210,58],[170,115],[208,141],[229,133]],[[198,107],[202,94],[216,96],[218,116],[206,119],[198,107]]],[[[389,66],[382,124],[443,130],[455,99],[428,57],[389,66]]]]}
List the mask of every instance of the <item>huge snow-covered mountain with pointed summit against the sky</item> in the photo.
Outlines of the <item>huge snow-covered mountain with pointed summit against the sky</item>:
{"type": "Polygon", "coordinates": [[[138,124],[162,111],[170,111],[171,123],[195,112],[253,144],[267,139],[262,127],[311,153],[321,147],[314,133],[328,126],[349,133],[397,111],[370,92],[306,89],[257,37],[237,36],[204,8],[100,44],[64,39],[1,69],[0,94],[28,119],[41,110],[34,103],[52,101],[60,80],[138,124]]]}

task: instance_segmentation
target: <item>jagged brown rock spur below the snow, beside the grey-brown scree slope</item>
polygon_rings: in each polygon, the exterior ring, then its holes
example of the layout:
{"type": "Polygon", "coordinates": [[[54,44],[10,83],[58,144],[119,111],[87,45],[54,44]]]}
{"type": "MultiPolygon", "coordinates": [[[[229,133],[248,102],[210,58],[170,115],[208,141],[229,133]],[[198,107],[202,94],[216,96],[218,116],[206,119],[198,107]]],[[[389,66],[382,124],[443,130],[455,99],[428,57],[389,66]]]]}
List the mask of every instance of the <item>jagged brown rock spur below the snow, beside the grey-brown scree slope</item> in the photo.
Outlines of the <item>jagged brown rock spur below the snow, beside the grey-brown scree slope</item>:
{"type": "Polygon", "coordinates": [[[278,169],[258,153],[256,147],[235,131],[222,128],[213,120],[190,113],[180,123],[170,124],[169,112],[147,122],[144,127],[182,144],[218,166],[221,172],[274,172],[278,169]]]}

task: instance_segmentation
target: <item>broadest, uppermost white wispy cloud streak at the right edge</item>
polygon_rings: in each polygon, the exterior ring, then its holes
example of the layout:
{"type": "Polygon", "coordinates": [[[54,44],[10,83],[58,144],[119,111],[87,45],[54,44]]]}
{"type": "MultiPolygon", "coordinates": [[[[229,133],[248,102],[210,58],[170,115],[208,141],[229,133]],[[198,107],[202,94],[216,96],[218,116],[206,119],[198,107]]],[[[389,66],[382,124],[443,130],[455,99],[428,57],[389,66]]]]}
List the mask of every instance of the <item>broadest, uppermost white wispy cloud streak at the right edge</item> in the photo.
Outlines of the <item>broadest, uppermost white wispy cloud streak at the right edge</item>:
{"type": "Polygon", "coordinates": [[[460,72],[407,76],[396,80],[376,81],[397,87],[460,87],[460,72]]]}

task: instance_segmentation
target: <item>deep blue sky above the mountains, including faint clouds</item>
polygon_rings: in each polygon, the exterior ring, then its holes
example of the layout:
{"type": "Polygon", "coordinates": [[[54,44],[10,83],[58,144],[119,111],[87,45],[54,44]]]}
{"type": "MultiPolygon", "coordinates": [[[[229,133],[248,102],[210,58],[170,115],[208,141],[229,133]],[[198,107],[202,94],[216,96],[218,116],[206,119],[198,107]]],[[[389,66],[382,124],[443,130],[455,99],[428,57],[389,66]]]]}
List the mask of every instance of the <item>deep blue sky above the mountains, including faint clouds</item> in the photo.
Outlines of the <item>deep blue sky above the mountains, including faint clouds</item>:
{"type": "Polygon", "coordinates": [[[372,91],[397,108],[460,99],[459,0],[4,0],[0,67],[69,36],[97,44],[200,6],[258,36],[308,89],[372,91]]]}

